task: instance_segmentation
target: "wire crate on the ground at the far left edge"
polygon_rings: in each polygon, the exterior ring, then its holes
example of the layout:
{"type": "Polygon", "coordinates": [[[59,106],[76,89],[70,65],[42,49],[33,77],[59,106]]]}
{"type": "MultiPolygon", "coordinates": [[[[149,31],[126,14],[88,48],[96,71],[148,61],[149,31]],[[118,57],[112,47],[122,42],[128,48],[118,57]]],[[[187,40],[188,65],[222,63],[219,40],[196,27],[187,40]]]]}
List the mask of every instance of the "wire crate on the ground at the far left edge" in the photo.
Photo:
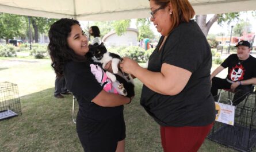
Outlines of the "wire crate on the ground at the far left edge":
{"type": "Polygon", "coordinates": [[[9,82],[0,83],[0,120],[19,114],[22,113],[18,85],[9,82]]]}

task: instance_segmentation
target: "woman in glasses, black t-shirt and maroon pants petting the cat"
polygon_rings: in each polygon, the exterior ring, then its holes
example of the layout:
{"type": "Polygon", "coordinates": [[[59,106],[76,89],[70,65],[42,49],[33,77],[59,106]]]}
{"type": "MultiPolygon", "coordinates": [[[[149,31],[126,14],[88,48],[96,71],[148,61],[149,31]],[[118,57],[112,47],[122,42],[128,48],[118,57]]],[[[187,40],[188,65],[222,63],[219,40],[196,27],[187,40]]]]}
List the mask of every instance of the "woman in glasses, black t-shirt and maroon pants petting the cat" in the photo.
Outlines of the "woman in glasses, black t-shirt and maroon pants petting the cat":
{"type": "Polygon", "coordinates": [[[161,126],[163,150],[197,151],[213,126],[212,54],[188,0],[150,0],[161,33],[148,68],[124,58],[120,67],[142,81],[140,104],[161,126]]]}

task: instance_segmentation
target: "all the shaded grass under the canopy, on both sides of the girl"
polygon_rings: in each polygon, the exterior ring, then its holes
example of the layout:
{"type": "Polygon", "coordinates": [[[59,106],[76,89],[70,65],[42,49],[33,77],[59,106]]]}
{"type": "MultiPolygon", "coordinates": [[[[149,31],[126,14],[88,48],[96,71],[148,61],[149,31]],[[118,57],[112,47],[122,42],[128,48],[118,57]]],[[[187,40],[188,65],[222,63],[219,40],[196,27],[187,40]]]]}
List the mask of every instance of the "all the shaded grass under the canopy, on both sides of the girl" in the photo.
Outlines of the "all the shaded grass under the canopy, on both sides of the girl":
{"type": "MultiPolygon", "coordinates": [[[[124,108],[126,152],[162,152],[159,126],[139,104],[142,84],[124,108]]],[[[83,151],[72,122],[72,96],[53,96],[54,88],[21,96],[22,115],[0,121],[0,151],[83,151]]],[[[76,103],[77,106],[77,103],[76,103]]],[[[232,151],[205,141],[199,151],[232,151]]]]}

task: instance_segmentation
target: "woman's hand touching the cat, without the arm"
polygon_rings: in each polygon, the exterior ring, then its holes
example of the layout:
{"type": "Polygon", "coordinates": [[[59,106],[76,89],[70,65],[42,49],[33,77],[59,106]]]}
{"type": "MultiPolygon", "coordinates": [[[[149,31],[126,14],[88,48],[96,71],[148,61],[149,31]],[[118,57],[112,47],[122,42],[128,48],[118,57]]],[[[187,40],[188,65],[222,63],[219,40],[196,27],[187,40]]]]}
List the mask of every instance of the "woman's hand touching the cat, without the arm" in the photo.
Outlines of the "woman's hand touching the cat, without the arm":
{"type": "Polygon", "coordinates": [[[139,64],[137,64],[136,61],[129,59],[128,57],[124,57],[120,63],[120,68],[122,71],[129,74],[135,72],[138,67],[140,67],[139,64]]]}

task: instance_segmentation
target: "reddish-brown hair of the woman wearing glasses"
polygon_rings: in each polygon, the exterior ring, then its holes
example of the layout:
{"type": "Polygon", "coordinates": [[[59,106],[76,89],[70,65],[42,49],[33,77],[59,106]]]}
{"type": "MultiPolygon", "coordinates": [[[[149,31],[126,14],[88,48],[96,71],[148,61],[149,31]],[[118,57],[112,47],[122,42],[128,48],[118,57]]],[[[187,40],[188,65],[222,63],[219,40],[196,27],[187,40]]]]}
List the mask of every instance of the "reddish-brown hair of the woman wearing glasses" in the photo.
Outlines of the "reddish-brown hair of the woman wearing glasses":
{"type": "Polygon", "coordinates": [[[176,28],[181,22],[189,22],[194,17],[194,9],[188,0],[149,0],[154,1],[156,5],[167,6],[170,2],[173,6],[173,12],[170,15],[171,30],[176,28]]]}

